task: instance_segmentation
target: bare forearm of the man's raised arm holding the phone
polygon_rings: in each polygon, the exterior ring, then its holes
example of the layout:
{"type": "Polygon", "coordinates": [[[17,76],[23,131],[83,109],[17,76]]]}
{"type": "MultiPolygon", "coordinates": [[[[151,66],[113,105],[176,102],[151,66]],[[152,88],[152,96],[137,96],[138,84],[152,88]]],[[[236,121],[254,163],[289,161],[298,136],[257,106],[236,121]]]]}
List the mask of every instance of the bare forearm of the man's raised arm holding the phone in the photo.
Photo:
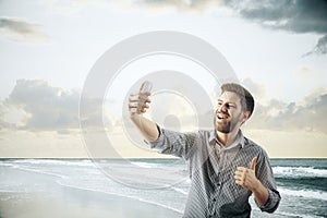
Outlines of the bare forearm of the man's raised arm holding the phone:
{"type": "Polygon", "coordinates": [[[131,114],[130,118],[146,141],[155,142],[159,137],[159,132],[155,122],[137,113],[131,114]]]}

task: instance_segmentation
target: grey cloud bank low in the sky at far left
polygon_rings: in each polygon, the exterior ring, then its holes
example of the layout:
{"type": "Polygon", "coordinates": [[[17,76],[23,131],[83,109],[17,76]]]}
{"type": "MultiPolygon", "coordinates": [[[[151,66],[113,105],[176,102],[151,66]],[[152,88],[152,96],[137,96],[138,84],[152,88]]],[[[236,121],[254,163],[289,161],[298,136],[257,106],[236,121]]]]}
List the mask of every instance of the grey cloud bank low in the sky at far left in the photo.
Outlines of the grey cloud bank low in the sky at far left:
{"type": "MultiPolygon", "coordinates": [[[[4,102],[0,102],[0,128],[19,128],[34,131],[56,130],[59,134],[68,133],[68,129],[80,129],[80,89],[64,89],[50,86],[43,80],[19,80],[15,87],[4,102]],[[3,117],[4,106],[15,108],[26,114],[24,122],[8,123],[3,117]]],[[[112,121],[102,116],[102,108],[95,108],[94,100],[87,99],[87,111],[82,119],[88,126],[102,123],[108,130],[112,121]]]]}

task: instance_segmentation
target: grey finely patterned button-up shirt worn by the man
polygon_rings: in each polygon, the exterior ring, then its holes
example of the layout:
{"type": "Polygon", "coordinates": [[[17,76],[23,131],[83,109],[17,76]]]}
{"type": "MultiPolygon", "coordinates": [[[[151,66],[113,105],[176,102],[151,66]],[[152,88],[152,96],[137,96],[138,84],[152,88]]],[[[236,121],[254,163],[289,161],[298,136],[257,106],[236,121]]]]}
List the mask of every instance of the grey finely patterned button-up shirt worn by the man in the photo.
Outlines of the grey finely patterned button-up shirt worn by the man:
{"type": "Polygon", "coordinates": [[[179,133],[158,126],[159,137],[148,143],[161,154],[174,155],[186,160],[191,178],[183,218],[250,217],[249,197],[252,192],[238,185],[234,180],[237,167],[250,168],[257,157],[256,178],[268,189],[267,203],[262,211],[277,209],[280,195],[276,187],[266,152],[244,137],[240,131],[235,143],[223,148],[217,143],[215,131],[179,133]]]}

